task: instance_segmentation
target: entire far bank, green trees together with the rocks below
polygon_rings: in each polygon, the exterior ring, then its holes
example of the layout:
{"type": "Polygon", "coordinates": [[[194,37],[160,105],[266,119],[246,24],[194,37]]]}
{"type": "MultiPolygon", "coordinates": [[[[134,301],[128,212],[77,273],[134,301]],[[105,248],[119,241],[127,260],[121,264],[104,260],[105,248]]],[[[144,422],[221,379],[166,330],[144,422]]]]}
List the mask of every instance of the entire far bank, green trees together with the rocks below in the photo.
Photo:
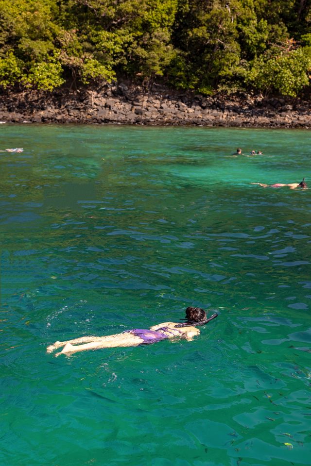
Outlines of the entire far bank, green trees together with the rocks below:
{"type": "Polygon", "coordinates": [[[309,127],[311,1],[0,0],[3,122],[309,127]]]}

